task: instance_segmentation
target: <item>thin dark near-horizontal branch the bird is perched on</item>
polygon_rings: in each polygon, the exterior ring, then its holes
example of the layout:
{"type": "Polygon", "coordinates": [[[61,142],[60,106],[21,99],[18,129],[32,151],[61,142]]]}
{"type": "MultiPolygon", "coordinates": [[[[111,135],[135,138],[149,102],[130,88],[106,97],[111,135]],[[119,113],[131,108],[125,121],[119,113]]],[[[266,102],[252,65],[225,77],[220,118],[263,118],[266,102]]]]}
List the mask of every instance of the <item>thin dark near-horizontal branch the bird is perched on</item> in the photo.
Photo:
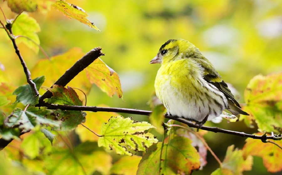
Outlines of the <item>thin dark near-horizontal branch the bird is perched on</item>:
{"type": "MultiPolygon", "coordinates": [[[[120,113],[128,113],[128,114],[138,114],[138,115],[145,115],[149,116],[152,111],[144,111],[144,110],[136,110],[136,109],[128,109],[128,108],[111,108],[111,107],[97,107],[97,106],[66,106],[66,105],[50,105],[50,104],[44,104],[48,109],[61,109],[61,110],[70,110],[70,111],[92,111],[92,112],[120,112],[120,113]]],[[[183,118],[175,118],[169,115],[165,115],[165,118],[167,119],[173,119],[175,121],[179,121],[181,123],[184,123],[188,125],[191,128],[198,128],[199,126],[197,124],[192,123],[191,121],[185,120],[183,118]]],[[[252,134],[246,134],[244,132],[238,132],[238,131],[230,131],[221,129],[218,127],[208,127],[208,126],[202,126],[200,129],[206,130],[206,131],[212,131],[212,132],[221,132],[225,134],[231,134],[235,136],[241,136],[241,137],[250,137],[253,139],[259,139],[259,140],[282,140],[282,136],[258,136],[258,135],[252,135],[252,134]]]]}

